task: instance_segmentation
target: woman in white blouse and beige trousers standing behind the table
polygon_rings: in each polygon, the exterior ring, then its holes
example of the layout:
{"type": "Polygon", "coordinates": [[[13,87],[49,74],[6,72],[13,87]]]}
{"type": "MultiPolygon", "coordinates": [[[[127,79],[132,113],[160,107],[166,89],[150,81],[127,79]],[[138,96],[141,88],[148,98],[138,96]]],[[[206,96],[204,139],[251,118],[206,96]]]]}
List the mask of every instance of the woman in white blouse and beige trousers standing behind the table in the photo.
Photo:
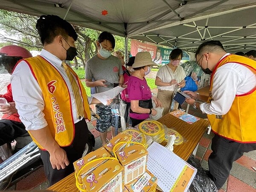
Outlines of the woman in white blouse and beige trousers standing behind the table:
{"type": "Polygon", "coordinates": [[[181,49],[173,49],[170,53],[170,62],[162,66],[157,72],[155,85],[157,85],[157,99],[163,105],[163,115],[169,112],[172,95],[175,89],[185,86],[184,78],[186,77],[183,67],[180,66],[180,60],[183,57],[181,49]]]}

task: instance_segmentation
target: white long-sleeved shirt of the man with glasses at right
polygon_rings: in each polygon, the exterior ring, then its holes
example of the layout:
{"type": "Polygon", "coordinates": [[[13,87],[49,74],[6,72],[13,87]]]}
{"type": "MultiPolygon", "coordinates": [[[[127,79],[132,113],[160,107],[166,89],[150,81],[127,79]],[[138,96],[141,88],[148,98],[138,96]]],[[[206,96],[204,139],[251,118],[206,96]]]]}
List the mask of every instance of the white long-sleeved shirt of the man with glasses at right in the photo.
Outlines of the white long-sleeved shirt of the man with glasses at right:
{"type": "Polygon", "coordinates": [[[212,83],[213,101],[202,103],[200,109],[203,113],[224,115],[230,110],[236,95],[248,93],[256,87],[256,75],[248,67],[230,62],[216,70],[212,83]]]}

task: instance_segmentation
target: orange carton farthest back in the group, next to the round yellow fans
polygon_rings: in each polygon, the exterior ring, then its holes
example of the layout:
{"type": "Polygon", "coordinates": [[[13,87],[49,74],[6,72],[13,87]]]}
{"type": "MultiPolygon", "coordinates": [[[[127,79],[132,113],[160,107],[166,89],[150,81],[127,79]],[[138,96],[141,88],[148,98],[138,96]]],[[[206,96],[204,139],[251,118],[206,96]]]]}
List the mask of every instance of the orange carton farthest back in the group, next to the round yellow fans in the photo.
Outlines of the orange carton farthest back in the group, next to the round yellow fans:
{"type": "MultiPolygon", "coordinates": [[[[114,137],[113,139],[111,139],[108,143],[106,143],[104,145],[105,149],[112,155],[114,156],[114,153],[113,153],[113,147],[121,142],[121,141],[124,141],[124,142],[129,142],[131,141],[131,136],[127,135],[127,134],[124,134],[124,133],[119,133],[118,135],[116,135],[116,137],[114,137]]],[[[122,150],[123,148],[125,148],[125,146],[128,146],[127,143],[125,144],[119,144],[117,147],[116,147],[116,151],[120,151],[122,150]]]]}

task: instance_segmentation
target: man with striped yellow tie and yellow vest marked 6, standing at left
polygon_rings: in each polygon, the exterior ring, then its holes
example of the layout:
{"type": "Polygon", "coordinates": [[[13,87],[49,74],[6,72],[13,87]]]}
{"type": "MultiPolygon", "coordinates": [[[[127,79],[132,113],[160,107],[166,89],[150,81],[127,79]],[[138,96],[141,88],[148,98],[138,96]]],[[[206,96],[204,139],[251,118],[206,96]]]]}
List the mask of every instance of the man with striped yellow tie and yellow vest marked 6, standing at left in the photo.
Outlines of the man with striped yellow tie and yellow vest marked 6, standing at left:
{"type": "Polygon", "coordinates": [[[63,62],[77,55],[76,31],[55,15],[42,15],[36,29],[44,49],[17,63],[11,84],[20,119],[39,146],[53,185],[74,172],[72,163],[94,137],[85,122],[90,120],[90,109],[84,87],[63,62]]]}

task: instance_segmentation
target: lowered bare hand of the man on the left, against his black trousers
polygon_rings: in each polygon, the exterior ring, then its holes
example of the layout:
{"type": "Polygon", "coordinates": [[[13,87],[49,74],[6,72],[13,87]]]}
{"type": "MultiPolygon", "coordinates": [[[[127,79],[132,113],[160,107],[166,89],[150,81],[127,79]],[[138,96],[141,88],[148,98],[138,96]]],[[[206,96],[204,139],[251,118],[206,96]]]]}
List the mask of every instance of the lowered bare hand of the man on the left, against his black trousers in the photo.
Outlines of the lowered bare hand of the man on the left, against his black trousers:
{"type": "Polygon", "coordinates": [[[52,169],[65,169],[65,167],[69,165],[69,160],[67,159],[67,154],[64,149],[57,147],[55,150],[49,151],[49,154],[52,169]]]}

